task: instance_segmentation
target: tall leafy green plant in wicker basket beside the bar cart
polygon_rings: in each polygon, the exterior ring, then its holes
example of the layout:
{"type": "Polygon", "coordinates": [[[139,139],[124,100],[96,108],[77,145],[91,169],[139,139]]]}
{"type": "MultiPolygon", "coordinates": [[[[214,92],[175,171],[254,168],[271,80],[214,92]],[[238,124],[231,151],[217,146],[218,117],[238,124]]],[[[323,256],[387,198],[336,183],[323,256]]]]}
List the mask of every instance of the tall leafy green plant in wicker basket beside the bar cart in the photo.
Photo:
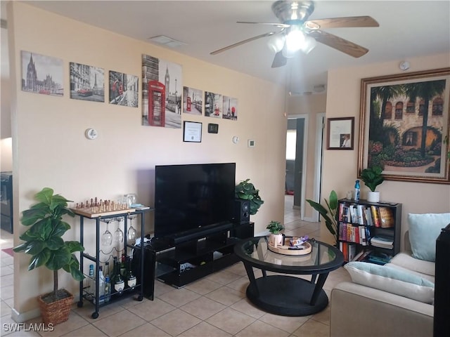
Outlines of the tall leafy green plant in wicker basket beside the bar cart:
{"type": "Polygon", "coordinates": [[[70,272],[74,279],[82,281],[84,275],[79,270],[79,261],[74,252],[84,251],[84,247],[77,241],[64,241],[62,238],[70,229],[70,225],[63,221],[63,216],[75,216],[67,207],[68,199],[53,194],[49,187],[37,192],[34,198],[39,202],[23,211],[20,220],[29,227],[20,235],[24,243],[13,251],[31,255],[28,270],[45,266],[53,271],[53,291],[39,296],[38,302],[44,323],[58,324],[68,320],[74,298],[69,291],[58,289],[58,270],[70,272]]]}

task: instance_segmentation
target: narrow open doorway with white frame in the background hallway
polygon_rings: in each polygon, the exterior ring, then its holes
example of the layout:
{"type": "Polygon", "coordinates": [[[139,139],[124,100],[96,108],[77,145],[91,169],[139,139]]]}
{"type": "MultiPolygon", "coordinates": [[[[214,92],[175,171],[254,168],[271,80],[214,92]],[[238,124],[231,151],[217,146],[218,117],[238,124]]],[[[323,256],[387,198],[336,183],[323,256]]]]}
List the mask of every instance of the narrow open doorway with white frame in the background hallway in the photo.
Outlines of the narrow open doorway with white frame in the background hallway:
{"type": "Polygon", "coordinates": [[[285,195],[292,195],[293,208],[300,209],[300,218],[303,218],[304,187],[306,173],[307,127],[308,115],[298,114],[288,117],[286,131],[286,169],[285,169],[285,195]]]}

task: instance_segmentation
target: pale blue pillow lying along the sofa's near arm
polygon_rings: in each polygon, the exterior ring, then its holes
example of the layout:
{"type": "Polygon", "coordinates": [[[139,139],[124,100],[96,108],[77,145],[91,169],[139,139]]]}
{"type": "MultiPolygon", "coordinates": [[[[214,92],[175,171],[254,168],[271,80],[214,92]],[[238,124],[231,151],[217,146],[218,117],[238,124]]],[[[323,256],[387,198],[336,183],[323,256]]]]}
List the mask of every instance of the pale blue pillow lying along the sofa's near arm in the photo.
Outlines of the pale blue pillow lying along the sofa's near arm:
{"type": "Polygon", "coordinates": [[[345,269],[354,283],[423,303],[432,304],[435,300],[435,284],[413,273],[384,265],[375,265],[375,263],[357,261],[347,263],[345,269]]]}

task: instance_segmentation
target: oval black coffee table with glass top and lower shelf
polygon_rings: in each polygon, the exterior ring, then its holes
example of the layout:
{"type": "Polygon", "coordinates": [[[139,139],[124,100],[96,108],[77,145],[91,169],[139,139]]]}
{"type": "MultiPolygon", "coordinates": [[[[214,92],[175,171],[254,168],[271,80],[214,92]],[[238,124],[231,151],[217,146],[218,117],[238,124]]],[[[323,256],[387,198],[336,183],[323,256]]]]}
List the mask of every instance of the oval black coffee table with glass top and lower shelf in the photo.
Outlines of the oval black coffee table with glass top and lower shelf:
{"type": "Polygon", "coordinates": [[[253,237],[234,246],[234,252],[243,261],[250,279],[248,299],[276,315],[307,316],[325,309],[328,296],[322,289],[323,284],[328,273],[344,263],[342,252],[313,239],[309,241],[310,253],[284,255],[270,251],[268,239],[253,237]],[[254,267],[262,270],[262,277],[255,279],[254,267]],[[282,275],[267,275],[268,271],[282,275]],[[311,280],[285,274],[311,275],[311,280]]]}

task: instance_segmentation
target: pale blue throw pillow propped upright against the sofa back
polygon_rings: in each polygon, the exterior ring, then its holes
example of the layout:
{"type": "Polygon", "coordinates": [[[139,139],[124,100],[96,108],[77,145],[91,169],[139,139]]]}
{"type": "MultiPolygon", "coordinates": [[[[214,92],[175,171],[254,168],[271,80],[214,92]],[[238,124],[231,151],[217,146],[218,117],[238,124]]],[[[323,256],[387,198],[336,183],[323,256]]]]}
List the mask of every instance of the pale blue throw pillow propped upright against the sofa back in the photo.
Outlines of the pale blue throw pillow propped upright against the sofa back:
{"type": "Polygon", "coordinates": [[[435,262],[436,239],[450,223],[450,213],[408,214],[409,241],[413,257],[435,262]]]}

